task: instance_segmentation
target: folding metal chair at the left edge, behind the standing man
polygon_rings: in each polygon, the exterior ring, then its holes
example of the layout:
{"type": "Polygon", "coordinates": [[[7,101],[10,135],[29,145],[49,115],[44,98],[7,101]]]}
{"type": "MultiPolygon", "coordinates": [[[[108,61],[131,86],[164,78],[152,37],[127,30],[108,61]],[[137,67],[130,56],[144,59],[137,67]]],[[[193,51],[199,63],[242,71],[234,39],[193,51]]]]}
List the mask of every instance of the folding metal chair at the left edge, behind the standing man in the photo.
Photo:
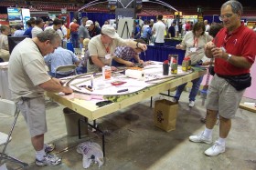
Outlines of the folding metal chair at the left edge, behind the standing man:
{"type": "Polygon", "coordinates": [[[19,115],[19,110],[16,107],[16,103],[13,101],[10,101],[10,100],[6,100],[6,99],[0,99],[0,113],[4,114],[4,115],[12,115],[15,117],[9,134],[6,135],[4,133],[0,133],[0,145],[5,145],[2,153],[0,152],[0,155],[1,155],[0,156],[0,164],[1,164],[2,160],[6,159],[6,160],[10,160],[12,162],[19,163],[23,166],[27,166],[27,163],[24,163],[24,162],[16,159],[15,157],[5,154],[5,149],[11,140],[11,135],[12,135],[14,127],[16,125],[16,119],[19,115]]]}

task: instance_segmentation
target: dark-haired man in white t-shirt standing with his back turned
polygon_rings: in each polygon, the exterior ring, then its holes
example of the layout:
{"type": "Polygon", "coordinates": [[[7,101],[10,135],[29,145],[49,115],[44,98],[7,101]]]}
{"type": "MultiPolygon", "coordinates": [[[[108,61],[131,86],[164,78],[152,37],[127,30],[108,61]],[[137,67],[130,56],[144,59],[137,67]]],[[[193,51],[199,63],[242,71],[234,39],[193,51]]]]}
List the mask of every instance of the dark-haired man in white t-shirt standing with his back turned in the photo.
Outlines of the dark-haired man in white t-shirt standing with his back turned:
{"type": "Polygon", "coordinates": [[[157,22],[152,27],[152,32],[155,35],[155,45],[165,45],[165,24],[162,21],[163,15],[157,16],[157,22]]]}

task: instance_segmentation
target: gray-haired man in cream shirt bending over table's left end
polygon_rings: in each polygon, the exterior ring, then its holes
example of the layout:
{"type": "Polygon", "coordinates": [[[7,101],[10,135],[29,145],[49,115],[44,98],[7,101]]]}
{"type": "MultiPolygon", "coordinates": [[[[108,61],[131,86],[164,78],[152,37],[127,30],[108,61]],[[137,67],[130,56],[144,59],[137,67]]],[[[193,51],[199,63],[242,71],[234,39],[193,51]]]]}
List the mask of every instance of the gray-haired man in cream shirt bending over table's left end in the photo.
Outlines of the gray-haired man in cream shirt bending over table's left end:
{"type": "Polygon", "coordinates": [[[59,165],[61,158],[48,154],[54,145],[44,144],[47,132],[44,91],[72,93],[60,80],[48,75],[44,55],[53,53],[60,44],[59,34],[53,29],[34,38],[26,38],[14,48],[8,65],[9,88],[12,99],[24,116],[36,150],[36,165],[59,165]]]}

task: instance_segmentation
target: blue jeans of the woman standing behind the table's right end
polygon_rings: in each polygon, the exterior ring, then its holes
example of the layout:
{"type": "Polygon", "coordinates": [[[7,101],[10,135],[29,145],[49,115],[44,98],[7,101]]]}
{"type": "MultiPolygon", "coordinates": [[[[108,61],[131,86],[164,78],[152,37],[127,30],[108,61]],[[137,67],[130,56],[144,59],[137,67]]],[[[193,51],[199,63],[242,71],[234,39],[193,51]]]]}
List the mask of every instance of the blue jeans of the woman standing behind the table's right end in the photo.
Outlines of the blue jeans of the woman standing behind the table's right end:
{"type": "MultiPolygon", "coordinates": [[[[193,83],[193,85],[192,85],[191,92],[188,96],[189,101],[195,101],[196,100],[197,92],[198,92],[198,89],[199,89],[199,87],[202,83],[203,77],[204,76],[200,76],[199,78],[191,81],[193,83]]],[[[181,93],[183,92],[186,85],[187,85],[187,83],[177,86],[176,95],[175,95],[175,98],[176,98],[177,101],[179,100],[179,97],[180,97],[181,93]]]]}

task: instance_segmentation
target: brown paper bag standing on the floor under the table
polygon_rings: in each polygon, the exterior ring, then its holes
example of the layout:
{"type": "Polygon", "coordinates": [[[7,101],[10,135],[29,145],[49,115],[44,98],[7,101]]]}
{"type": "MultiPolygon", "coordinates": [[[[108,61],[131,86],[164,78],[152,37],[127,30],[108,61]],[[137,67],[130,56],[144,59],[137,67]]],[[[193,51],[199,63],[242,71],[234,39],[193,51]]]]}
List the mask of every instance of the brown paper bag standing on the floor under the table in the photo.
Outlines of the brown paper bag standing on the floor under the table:
{"type": "Polygon", "coordinates": [[[176,115],[178,111],[177,103],[169,100],[156,100],[154,111],[155,126],[170,132],[176,129],[176,115]]]}

